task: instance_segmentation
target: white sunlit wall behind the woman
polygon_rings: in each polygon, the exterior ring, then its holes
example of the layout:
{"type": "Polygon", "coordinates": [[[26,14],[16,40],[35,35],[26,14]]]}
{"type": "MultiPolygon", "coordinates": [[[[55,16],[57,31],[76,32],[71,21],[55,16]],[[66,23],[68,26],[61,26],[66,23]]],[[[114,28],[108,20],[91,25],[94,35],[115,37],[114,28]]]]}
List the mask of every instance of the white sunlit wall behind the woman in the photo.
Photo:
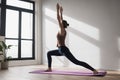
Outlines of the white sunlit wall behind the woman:
{"type": "MultiPolygon", "coordinates": [[[[58,0],[42,1],[43,62],[47,63],[47,51],[56,49],[58,0]]],[[[60,1],[64,8],[64,18],[70,24],[66,42],[73,55],[95,68],[120,69],[120,0],[60,1]]],[[[63,57],[54,58],[54,64],[63,64],[63,57]]],[[[66,62],[69,66],[73,65],[66,62]]]]}

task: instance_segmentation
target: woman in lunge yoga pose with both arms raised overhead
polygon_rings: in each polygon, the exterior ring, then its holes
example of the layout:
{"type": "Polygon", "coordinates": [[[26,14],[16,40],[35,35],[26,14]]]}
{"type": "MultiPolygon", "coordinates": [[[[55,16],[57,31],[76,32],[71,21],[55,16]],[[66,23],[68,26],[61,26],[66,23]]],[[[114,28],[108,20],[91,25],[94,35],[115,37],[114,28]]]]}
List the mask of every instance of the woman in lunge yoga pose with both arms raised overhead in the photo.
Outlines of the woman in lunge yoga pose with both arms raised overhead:
{"type": "Polygon", "coordinates": [[[56,50],[51,50],[47,53],[47,58],[48,58],[48,69],[46,71],[52,71],[51,64],[52,64],[52,57],[51,56],[65,56],[67,59],[69,59],[71,62],[73,62],[76,65],[83,66],[91,71],[93,71],[94,74],[97,74],[97,70],[92,68],[90,65],[88,65],[85,62],[77,60],[70,50],[66,47],[65,45],[65,38],[66,38],[66,28],[69,26],[66,20],[63,20],[63,8],[57,3],[56,5],[57,8],[57,19],[59,23],[59,28],[60,30],[57,33],[57,47],[58,49],[56,50]]]}

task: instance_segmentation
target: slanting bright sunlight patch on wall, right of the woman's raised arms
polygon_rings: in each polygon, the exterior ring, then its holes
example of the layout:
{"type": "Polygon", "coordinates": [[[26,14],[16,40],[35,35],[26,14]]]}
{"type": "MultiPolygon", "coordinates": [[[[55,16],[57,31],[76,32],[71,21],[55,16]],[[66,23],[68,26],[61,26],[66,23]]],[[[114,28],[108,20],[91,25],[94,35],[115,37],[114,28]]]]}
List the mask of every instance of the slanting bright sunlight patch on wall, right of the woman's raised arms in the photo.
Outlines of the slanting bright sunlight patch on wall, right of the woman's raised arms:
{"type": "Polygon", "coordinates": [[[95,40],[99,40],[99,30],[89,24],[86,24],[82,21],[75,20],[71,17],[64,16],[64,18],[68,21],[70,24],[70,27],[76,29],[77,31],[80,31],[84,35],[87,35],[90,38],[93,38],[95,40]]]}

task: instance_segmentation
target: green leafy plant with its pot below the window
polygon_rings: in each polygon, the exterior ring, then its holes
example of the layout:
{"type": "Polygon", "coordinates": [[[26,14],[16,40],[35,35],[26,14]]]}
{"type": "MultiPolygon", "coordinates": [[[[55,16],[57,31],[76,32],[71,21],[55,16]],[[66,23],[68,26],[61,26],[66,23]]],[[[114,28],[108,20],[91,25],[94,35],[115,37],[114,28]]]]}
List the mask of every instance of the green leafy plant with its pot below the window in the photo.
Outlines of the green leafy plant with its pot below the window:
{"type": "Polygon", "coordinates": [[[0,52],[2,53],[3,60],[1,61],[1,69],[8,69],[8,60],[11,56],[7,57],[7,51],[12,45],[7,45],[4,41],[0,41],[0,52]]]}

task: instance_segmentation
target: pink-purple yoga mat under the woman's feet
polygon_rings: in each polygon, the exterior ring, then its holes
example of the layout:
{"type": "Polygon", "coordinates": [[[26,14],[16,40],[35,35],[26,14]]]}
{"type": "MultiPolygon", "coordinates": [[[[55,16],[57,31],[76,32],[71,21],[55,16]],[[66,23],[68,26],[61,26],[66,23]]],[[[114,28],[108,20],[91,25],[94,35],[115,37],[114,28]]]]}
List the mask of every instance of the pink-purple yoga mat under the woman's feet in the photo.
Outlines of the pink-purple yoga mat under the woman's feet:
{"type": "Polygon", "coordinates": [[[90,71],[63,71],[63,70],[53,70],[52,72],[45,72],[45,70],[35,70],[30,73],[35,74],[57,74],[57,75],[75,75],[75,76],[105,76],[105,71],[98,71],[98,74],[93,74],[90,71]]]}

